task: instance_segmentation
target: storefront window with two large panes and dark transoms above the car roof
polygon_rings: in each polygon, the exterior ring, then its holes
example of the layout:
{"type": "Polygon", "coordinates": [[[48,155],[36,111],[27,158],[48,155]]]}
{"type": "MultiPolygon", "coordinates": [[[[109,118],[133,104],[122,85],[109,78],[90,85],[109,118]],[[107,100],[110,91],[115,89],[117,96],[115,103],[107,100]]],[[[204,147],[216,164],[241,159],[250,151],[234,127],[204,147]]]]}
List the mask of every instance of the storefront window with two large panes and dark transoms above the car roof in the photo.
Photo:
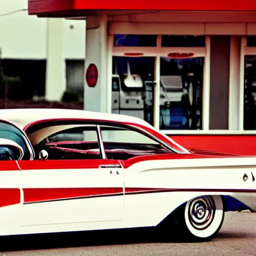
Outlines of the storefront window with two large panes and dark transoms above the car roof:
{"type": "Polygon", "coordinates": [[[139,117],[163,130],[202,129],[205,36],[113,37],[112,113],[139,117]]]}

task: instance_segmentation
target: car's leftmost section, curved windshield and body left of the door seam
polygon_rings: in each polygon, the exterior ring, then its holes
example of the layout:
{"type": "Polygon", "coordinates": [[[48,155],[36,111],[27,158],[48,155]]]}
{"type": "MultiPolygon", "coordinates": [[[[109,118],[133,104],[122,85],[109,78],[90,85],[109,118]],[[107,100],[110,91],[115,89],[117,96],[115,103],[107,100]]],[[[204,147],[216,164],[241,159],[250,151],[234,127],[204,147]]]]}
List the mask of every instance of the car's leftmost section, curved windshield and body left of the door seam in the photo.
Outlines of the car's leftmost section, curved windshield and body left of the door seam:
{"type": "Polygon", "coordinates": [[[22,191],[18,159],[32,159],[25,134],[15,124],[0,120],[0,234],[17,233],[21,221],[22,191]]]}

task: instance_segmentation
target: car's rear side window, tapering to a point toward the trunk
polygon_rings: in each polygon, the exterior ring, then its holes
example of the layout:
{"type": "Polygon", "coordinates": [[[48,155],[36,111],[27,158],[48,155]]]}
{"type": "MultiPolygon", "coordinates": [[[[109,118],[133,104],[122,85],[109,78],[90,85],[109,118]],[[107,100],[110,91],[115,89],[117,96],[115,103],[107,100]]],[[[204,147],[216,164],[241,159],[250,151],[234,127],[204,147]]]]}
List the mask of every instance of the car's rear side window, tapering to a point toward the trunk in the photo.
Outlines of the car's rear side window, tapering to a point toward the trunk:
{"type": "Polygon", "coordinates": [[[128,128],[100,126],[107,158],[126,160],[133,156],[171,153],[156,140],[128,128]]]}

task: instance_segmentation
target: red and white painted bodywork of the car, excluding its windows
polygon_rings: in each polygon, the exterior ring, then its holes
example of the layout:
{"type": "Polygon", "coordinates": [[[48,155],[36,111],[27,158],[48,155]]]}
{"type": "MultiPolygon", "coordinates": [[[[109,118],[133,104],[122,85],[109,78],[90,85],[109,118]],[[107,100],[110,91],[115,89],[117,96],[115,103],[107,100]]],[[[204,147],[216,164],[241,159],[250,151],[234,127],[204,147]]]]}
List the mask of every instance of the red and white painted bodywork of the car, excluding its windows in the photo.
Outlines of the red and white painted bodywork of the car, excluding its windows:
{"type": "MultiPolygon", "coordinates": [[[[188,227],[194,236],[207,238],[222,223],[225,209],[218,208],[218,196],[230,196],[256,210],[256,157],[193,154],[143,120],[119,114],[2,109],[0,119],[23,129],[31,154],[29,159],[0,161],[0,235],[157,226],[180,205],[209,195],[216,204],[209,228],[188,227]],[[175,152],[126,160],[38,159],[31,143],[37,134],[33,137],[35,131],[28,130],[53,120],[70,121],[68,127],[88,120],[125,124],[152,132],[175,152]]],[[[45,128],[47,134],[51,130],[45,128]]]]}

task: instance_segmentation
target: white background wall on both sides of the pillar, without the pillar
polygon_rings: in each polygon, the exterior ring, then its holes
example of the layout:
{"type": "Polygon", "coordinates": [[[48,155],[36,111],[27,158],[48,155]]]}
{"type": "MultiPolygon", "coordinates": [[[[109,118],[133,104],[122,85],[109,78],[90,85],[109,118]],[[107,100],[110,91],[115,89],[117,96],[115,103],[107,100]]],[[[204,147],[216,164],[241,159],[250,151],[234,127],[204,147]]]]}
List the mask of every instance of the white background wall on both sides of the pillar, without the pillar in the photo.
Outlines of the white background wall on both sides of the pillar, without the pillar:
{"type": "MultiPolygon", "coordinates": [[[[27,0],[0,0],[0,15],[20,9],[27,9],[27,0]]],[[[85,21],[61,20],[63,58],[84,59],[85,21]]],[[[0,48],[3,58],[45,59],[46,35],[47,18],[28,15],[27,10],[0,16],[0,48]]]]}

